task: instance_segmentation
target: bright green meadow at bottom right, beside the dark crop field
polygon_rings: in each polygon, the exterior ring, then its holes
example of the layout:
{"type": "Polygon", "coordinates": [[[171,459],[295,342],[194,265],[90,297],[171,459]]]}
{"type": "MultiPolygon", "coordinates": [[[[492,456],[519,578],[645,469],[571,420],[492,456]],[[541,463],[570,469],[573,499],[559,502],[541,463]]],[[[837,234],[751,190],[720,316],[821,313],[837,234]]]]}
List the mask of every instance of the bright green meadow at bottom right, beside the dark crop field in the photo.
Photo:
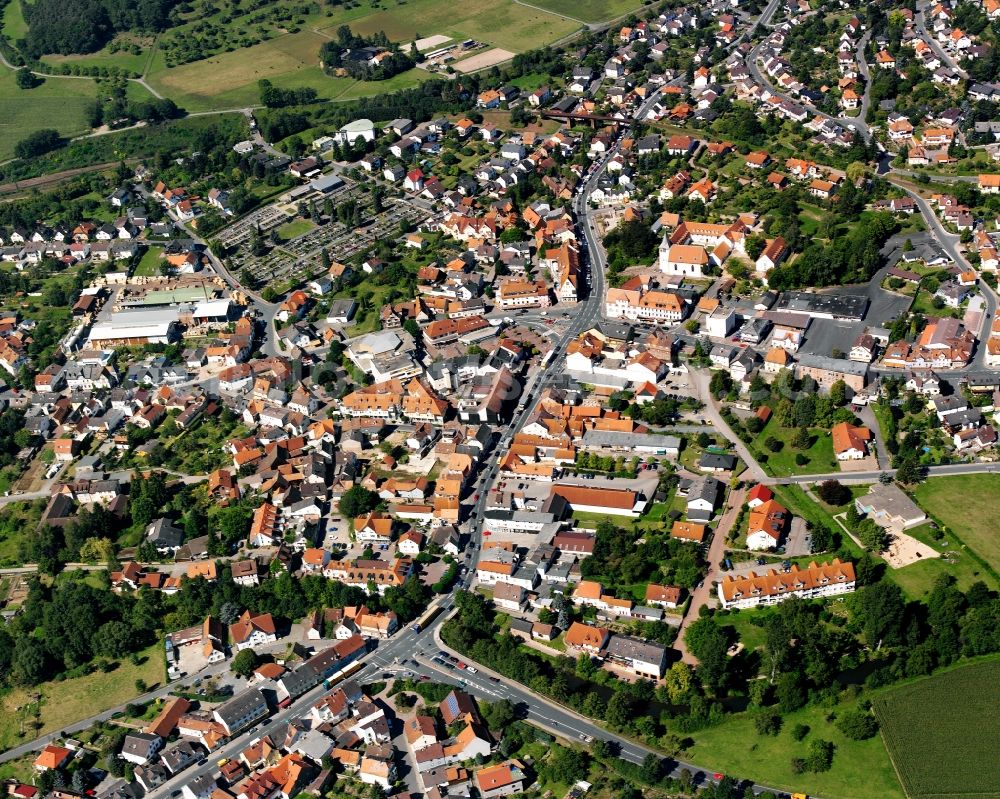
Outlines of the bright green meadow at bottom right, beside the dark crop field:
{"type": "MultiPolygon", "coordinates": [[[[853,702],[848,702],[836,710],[852,706],[853,702]]],[[[694,733],[695,745],[684,756],[695,763],[712,763],[726,774],[810,796],[903,799],[903,791],[879,737],[867,741],[849,740],[826,721],[830,710],[807,707],[789,713],[784,717],[781,732],[774,737],[758,735],[750,717],[740,713],[717,727],[694,733]],[[810,729],[801,742],[792,739],[791,730],[796,724],[806,724],[810,729]],[[833,742],[836,747],[833,767],[822,774],[794,774],[791,759],[804,757],[814,736],[833,742]]],[[[926,733],[927,729],[923,731],[926,733]]],[[[937,739],[937,735],[931,737],[937,739]]]]}

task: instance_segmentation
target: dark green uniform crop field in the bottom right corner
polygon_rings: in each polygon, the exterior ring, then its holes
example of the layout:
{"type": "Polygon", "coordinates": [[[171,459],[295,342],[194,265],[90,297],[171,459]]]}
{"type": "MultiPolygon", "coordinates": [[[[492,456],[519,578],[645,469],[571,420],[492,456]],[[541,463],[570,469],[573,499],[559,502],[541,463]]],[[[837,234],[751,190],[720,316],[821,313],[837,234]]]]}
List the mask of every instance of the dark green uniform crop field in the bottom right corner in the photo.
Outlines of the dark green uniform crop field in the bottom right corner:
{"type": "Polygon", "coordinates": [[[996,739],[1000,661],[961,666],[894,688],[875,702],[882,737],[911,799],[1000,794],[996,739]]]}

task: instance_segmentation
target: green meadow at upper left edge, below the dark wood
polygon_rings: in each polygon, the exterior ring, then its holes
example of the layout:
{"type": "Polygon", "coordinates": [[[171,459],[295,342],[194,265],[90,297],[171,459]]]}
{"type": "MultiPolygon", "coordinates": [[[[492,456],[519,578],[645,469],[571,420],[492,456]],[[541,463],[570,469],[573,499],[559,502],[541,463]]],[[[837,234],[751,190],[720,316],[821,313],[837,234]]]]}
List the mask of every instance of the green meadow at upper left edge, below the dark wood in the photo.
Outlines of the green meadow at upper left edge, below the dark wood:
{"type": "Polygon", "coordinates": [[[0,71],[0,160],[12,158],[14,145],[42,128],[68,137],[86,133],[87,108],[96,96],[92,80],[46,78],[34,89],[19,89],[13,72],[0,71]]]}

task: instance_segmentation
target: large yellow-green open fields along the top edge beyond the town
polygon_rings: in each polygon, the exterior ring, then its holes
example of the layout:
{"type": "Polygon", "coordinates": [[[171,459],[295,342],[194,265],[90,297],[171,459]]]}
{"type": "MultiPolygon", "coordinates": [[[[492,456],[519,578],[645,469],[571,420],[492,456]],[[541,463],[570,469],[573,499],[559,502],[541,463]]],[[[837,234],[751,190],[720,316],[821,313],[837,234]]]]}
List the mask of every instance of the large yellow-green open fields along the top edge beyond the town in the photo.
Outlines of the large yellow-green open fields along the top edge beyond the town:
{"type": "MultiPolygon", "coordinates": [[[[372,82],[324,74],[319,65],[320,46],[333,38],[337,28],[344,24],[362,35],[384,31],[390,39],[400,42],[441,35],[449,40],[476,39],[512,53],[563,38],[580,27],[578,22],[557,13],[521,5],[514,0],[496,3],[470,0],[459,6],[442,0],[388,4],[362,0],[349,9],[325,10],[320,10],[319,6],[284,5],[297,9],[293,22],[279,26],[271,22],[254,23],[261,31],[250,36],[243,35],[247,33],[243,29],[250,23],[238,17],[229,23],[234,33],[224,47],[205,46],[206,57],[177,66],[170,66],[177,63],[170,42],[183,41],[185,36],[189,37],[189,42],[203,41],[204,36],[197,32],[205,25],[213,32],[212,40],[220,40],[219,32],[226,26],[218,18],[218,12],[207,18],[192,14],[188,22],[164,34],[158,41],[119,37],[97,53],[47,56],[45,61],[53,65],[74,63],[145,73],[149,85],[160,94],[190,112],[199,112],[256,105],[259,102],[257,82],[265,78],[280,88],[314,88],[323,100],[351,100],[415,86],[432,76],[424,70],[413,69],[387,81],[372,82]],[[303,8],[307,8],[308,13],[298,13],[303,8]],[[168,51],[172,55],[168,56],[168,51]]],[[[599,13],[602,7],[618,16],[623,13],[620,8],[628,10],[637,4],[634,0],[596,0],[588,15],[599,13]]],[[[586,21],[590,20],[588,15],[585,15],[586,21]]],[[[6,24],[16,28],[18,20],[6,20],[6,24]]]]}

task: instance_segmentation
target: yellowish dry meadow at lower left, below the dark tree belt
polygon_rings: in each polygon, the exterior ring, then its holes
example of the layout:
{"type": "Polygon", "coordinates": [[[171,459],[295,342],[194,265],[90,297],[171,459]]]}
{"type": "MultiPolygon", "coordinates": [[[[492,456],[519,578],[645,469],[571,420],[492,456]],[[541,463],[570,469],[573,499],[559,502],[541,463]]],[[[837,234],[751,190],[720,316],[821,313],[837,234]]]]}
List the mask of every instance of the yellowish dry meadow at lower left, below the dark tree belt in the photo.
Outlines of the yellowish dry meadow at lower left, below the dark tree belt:
{"type": "Polygon", "coordinates": [[[9,749],[24,740],[18,736],[23,716],[23,711],[18,708],[31,702],[33,711],[36,690],[42,697],[37,721],[41,726],[34,726],[32,712],[24,724],[28,740],[134,699],[137,696],[137,679],[145,680],[149,686],[162,683],[163,644],[153,644],[140,653],[140,658],[145,658],[145,661],[139,666],[123,660],[117,669],[106,674],[96,671],[85,677],[48,682],[30,692],[17,688],[4,694],[0,697],[0,748],[9,749]]]}

